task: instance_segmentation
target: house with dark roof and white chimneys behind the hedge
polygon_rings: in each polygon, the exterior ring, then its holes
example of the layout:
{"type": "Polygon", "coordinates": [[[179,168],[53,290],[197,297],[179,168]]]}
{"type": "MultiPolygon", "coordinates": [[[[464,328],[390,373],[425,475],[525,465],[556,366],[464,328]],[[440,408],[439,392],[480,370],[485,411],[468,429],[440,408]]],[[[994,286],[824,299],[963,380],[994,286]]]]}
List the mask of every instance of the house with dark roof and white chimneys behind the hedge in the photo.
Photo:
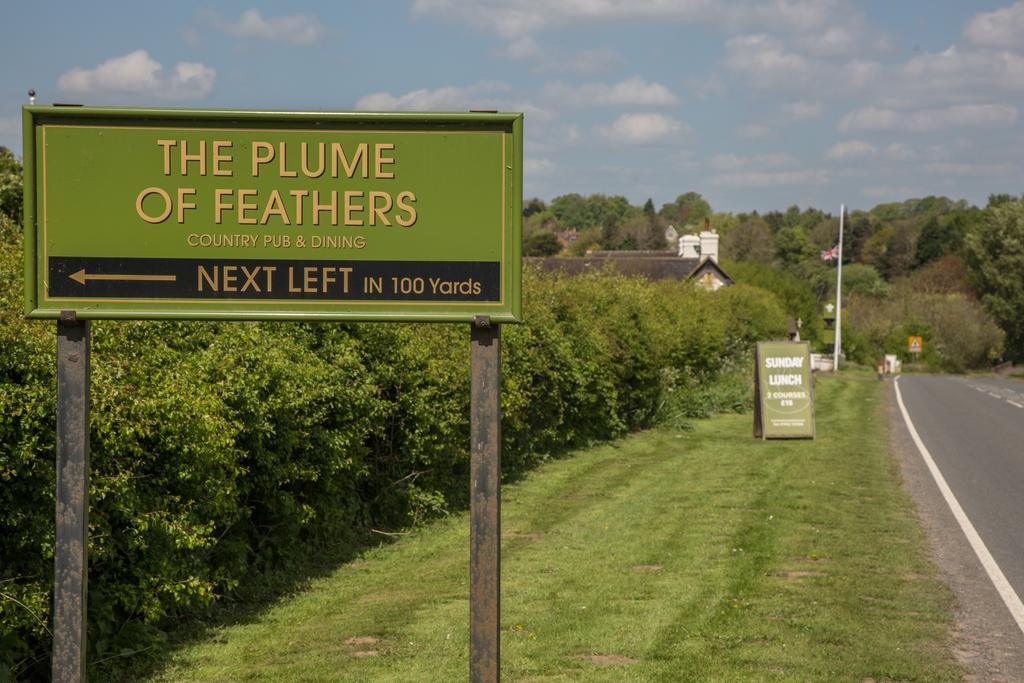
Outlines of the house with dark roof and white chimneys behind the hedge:
{"type": "Polygon", "coordinates": [[[574,258],[535,257],[523,260],[547,271],[569,274],[608,267],[624,275],[648,280],[688,280],[709,292],[732,285],[732,278],[718,264],[718,233],[707,224],[698,234],[679,238],[678,251],[595,251],[574,258]]]}

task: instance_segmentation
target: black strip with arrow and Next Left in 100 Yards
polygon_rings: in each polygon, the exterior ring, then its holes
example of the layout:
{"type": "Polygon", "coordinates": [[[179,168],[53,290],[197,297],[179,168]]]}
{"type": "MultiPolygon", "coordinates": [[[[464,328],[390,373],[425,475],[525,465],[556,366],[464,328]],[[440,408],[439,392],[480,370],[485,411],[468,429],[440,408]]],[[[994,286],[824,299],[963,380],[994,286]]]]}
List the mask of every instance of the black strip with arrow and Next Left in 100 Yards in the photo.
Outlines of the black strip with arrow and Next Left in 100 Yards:
{"type": "Polygon", "coordinates": [[[51,256],[49,296],[289,301],[500,301],[497,261],[51,256]]]}

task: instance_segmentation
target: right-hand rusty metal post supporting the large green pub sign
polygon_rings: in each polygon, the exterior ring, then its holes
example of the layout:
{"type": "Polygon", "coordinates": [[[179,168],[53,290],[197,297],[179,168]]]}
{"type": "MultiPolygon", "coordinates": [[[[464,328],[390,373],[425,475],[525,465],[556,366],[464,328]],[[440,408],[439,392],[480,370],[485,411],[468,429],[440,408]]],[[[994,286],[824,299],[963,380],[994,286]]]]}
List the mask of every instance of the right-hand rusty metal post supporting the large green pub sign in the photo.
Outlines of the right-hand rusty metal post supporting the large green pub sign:
{"type": "Polygon", "coordinates": [[[501,330],[470,335],[469,680],[497,683],[501,629],[501,330]]]}

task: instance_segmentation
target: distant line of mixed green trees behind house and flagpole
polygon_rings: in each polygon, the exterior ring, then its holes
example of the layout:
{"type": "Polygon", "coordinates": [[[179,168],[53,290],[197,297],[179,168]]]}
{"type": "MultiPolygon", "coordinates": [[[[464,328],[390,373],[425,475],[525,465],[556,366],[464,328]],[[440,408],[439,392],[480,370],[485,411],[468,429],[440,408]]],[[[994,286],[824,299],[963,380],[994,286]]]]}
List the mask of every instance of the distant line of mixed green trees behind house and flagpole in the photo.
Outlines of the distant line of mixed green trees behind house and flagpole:
{"type": "MultiPolygon", "coordinates": [[[[791,206],[760,213],[716,212],[698,193],[655,209],[625,197],[579,194],[523,204],[527,256],[582,256],[595,250],[675,250],[667,231],[703,228],[721,239],[720,261],[737,282],[772,291],[803,334],[822,350],[821,311],[835,297],[839,216],[791,206]]],[[[844,220],[844,351],[872,364],[906,353],[921,334],[923,359],[965,370],[1024,360],[1024,195],[993,194],[984,207],[929,196],[849,211],[844,220]],[[955,312],[951,312],[955,309],[955,312]],[[885,317],[880,318],[879,311],[885,317]],[[844,322],[845,324],[847,321],[844,322]],[[965,335],[977,337],[963,348],[965,335]]]]}

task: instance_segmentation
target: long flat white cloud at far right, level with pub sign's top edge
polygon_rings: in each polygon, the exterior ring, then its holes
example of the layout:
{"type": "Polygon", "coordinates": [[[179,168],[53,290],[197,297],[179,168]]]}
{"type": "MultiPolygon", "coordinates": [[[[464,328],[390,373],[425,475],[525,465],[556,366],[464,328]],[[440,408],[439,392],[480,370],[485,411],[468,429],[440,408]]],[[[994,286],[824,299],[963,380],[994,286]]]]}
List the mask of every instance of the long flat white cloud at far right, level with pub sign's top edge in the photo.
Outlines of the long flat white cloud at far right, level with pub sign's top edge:
{"type": "Polygon", "coordinates": [[[867,106],[840,119],[839,130],[900,130],[930,132],[946,128],[993,128],[1017,123],[1011,104],[954,104],[944,109],[898,111],[867,106]]]}

